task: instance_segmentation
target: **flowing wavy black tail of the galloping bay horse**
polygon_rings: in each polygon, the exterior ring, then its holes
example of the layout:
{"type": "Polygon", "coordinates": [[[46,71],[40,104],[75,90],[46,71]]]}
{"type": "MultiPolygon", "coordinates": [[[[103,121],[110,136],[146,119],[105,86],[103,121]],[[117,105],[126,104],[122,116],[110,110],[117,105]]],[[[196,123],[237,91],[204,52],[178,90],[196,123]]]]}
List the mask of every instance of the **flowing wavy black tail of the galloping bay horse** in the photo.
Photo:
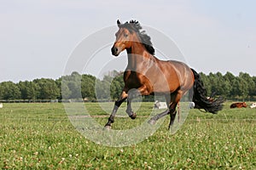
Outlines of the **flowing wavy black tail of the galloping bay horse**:
{"type": "Polygon", "coordinates": [[[213,114],[221,111],[223,108],[224,99],[222,97],[219,97],[218,99],[207,98],[207,90],[201,81],[200,75],[195,70],[191,70],[193,71],[195,77],[192,99],[192,101],[195,103],[195,108],[204,109],[205,111],[213,114]]]}

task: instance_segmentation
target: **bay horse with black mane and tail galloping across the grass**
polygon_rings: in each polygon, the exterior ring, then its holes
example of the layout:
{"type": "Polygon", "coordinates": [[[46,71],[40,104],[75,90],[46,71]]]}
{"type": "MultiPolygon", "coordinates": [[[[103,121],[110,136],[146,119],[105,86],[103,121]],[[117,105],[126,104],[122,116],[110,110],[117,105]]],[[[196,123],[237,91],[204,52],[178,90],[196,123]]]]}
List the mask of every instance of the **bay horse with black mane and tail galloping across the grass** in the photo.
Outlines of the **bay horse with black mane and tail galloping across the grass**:
{"type": "Polygon", "coordinates": [[[131,100],[138,94],[154,95],[163,94],[168,109],[153,116],[148,123],[154,124],[160,117],[170,115],[169,128],[172,126],[177,114],[177,105],[183,95],[190,92],[193,102],[198,107],[213,114],[222,110],[224,99],[218,98],[210,101],[207,92],[201,82],[199,74],[176,60],[160,60],[154,57],[154,48],[150,37],[142,31],[142,26],[136,20],[121,24],[117,20],[119,31],[116,32],[116,40],[111,52],[118,56],[126,50],[128,65],[124,72],[125,87],[119,99],[115,101],[113,111],[108,118],[105,127],[110,128],[119,106],[127,99],[126,113],[131,119],[137,114],[131,109],[131,100]],[[136,89],[136,90],[134,90],[136,89]],[[194,91],[194,93],[193,93],[194,91]]]}

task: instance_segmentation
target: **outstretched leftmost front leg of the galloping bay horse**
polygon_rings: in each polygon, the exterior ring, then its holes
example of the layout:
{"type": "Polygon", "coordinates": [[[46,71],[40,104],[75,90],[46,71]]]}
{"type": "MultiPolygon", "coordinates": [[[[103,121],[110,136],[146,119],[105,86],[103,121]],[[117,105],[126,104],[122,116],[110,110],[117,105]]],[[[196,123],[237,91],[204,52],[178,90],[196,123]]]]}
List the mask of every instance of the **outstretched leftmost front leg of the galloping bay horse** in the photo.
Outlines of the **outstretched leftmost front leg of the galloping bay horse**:
{"type": "Polygon", "coordinates": [[[116,112],[118,111],[119,106],[125,101],[125,99],[127,99],[127,96],[128,96],[127,92],[125,90],[123,90],[119,99],[114,103],[113,111],[112,111],[111,115],[108,117],[108,122],[105,125],[105,127],[107,127],[107,128],[111,127],[111,123],[113,123],[114,116],[115,116],[116,112]]]}

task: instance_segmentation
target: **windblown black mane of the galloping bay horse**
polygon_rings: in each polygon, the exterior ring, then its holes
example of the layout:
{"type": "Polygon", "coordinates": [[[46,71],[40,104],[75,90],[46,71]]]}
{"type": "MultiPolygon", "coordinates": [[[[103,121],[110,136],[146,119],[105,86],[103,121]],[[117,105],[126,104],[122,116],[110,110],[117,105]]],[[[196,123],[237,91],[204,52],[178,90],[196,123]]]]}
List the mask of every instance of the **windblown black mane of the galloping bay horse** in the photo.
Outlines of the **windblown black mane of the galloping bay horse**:
{"type": "Polygon", "coordinates": [[[153,44],[151,38],[146,34],[146,31],[141,31],[143,27],[136,20],[130,20],[130,22],[125,22],[125,24],[120,24],[120,27],[125,27],[129,31],[136,31],[137,35],[141,38],[144,47],[147,49],[149,54],[154,54],[153,44]]]}

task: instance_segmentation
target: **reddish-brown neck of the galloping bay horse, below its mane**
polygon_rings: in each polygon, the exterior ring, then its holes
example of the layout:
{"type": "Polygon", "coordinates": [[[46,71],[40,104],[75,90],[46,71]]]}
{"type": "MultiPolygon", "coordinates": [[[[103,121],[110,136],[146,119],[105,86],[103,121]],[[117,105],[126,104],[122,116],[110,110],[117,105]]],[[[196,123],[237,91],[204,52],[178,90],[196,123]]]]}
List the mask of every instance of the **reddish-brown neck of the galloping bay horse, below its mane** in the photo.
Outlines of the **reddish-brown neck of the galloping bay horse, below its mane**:
{"type": "Polygon", "coordinates": [[[126,51],[128,55],[128,65],[126,69],[128,70],[141,70],[144,67],[151,65],[152,61],[154,60],[154,56],[149,54],[146,48],[144,48],[143,44],[140,42],[134,42],[131,48],[128,48],[126,51]]]}

